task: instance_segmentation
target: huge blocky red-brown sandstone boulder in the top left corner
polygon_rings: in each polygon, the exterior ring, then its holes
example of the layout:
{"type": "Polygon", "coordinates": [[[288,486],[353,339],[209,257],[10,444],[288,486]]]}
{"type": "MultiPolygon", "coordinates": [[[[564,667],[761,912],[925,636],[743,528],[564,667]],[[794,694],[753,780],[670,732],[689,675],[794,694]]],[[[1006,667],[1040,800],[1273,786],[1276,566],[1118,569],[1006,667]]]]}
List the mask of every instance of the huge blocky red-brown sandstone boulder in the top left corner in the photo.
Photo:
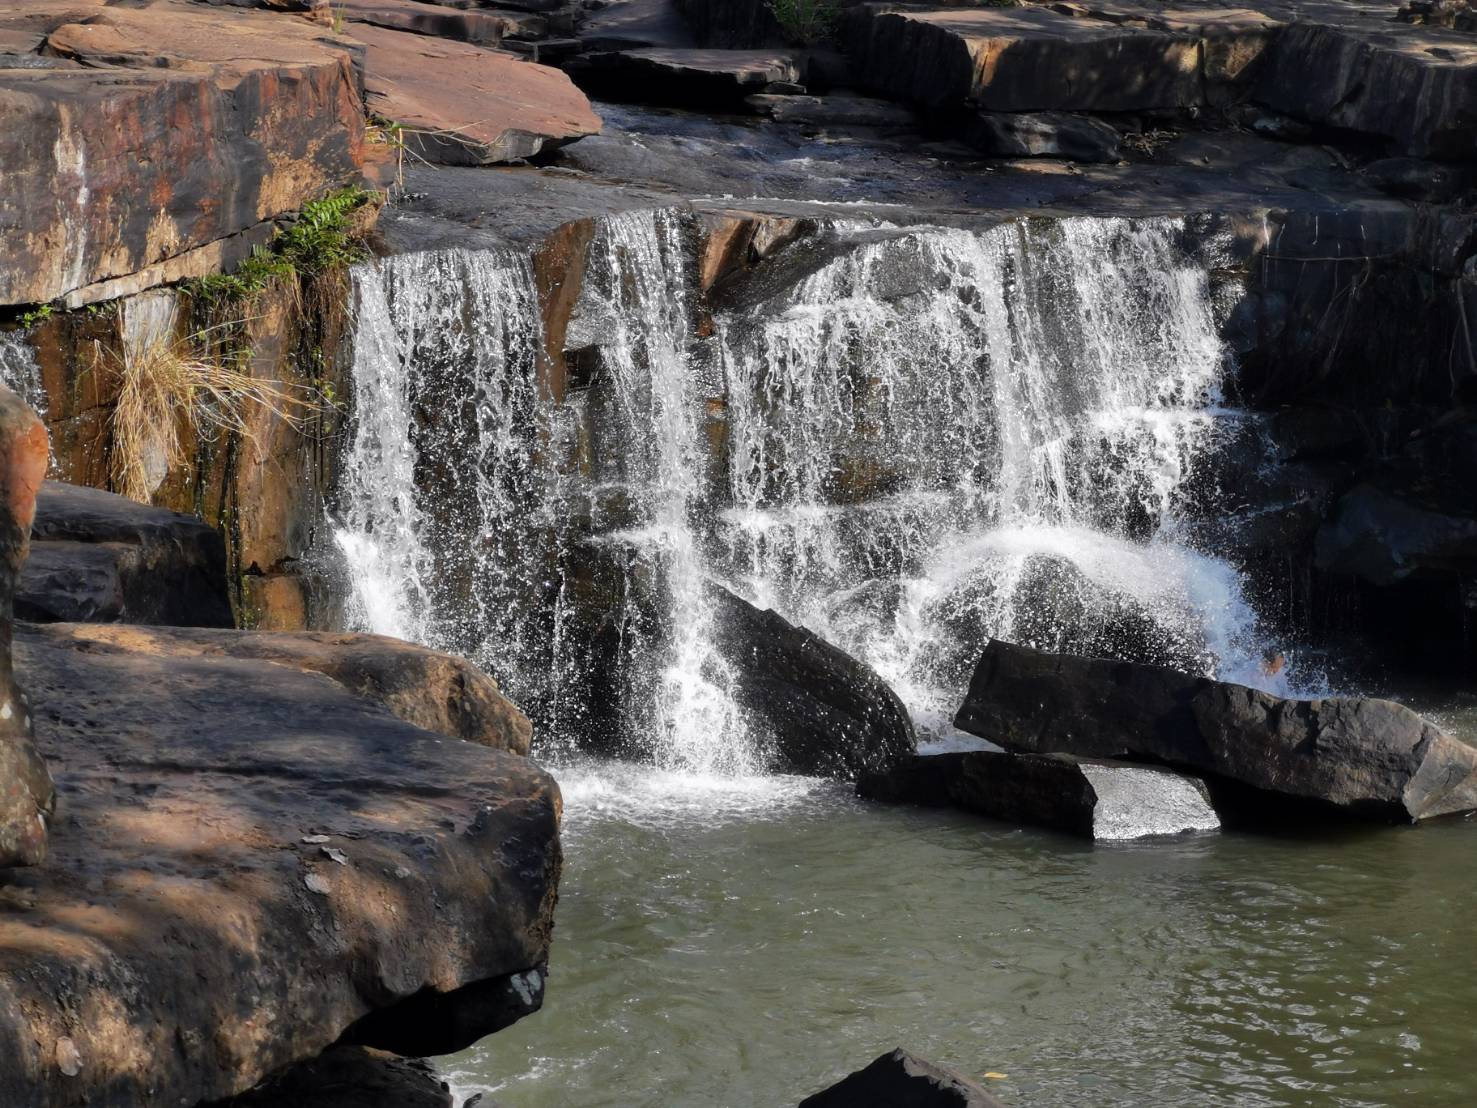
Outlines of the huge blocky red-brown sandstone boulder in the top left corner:
{"type": "Polygon", "coordinates": [[[0,72],[0,303],[188,276],[168,263],[220,264],[220,244],[357,176],[357,78],[323,35],[164,0],[50,30],[80,65],[0,72]]]}

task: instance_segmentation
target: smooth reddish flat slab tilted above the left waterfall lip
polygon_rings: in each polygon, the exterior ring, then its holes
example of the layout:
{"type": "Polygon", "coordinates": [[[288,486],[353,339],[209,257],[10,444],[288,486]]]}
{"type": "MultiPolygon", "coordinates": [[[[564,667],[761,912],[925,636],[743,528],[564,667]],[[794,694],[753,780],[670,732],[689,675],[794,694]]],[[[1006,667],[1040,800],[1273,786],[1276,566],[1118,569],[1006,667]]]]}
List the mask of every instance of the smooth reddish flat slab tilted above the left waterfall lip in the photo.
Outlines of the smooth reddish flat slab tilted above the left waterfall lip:
{"type": "Polygon", "coordinates": [[[600,131],[589,100],[558,69],[405,31],[353,33],[365,46],[369,111],[403,124],[406,143],[428,161],[520,161],[600,131]]]}

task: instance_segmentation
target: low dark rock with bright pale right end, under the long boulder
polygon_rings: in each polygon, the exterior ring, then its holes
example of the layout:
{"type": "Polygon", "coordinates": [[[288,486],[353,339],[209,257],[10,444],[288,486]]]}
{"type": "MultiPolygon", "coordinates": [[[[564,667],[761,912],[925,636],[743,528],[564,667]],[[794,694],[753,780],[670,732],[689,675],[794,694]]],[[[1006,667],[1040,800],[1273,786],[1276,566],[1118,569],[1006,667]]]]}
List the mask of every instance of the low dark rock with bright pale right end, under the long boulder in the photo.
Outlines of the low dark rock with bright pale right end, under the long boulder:
{"type": "Polygon", "coordinates": [[[894,804],[962,808],[1102,841],[1220,827],[1210,793],[1195,777],[1059,753],[920,755],[863,774],[857,793],[894,804]]]}

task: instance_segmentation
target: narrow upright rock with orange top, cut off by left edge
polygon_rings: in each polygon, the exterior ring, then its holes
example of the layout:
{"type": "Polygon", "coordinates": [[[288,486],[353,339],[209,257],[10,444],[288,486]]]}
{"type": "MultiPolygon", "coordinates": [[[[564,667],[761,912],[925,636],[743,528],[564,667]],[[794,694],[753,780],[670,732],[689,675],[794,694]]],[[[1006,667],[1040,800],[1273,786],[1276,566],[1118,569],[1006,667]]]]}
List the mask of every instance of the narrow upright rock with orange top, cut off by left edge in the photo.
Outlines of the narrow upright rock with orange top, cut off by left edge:
{"type": "Polygon", "coordinates": [[[25,560],[35,492],[46,473],[46,428],[0,386],[0,867],[46,857],[56,790],[35,746],[31,708],[10,660],[12,601],[25,560]]]}

